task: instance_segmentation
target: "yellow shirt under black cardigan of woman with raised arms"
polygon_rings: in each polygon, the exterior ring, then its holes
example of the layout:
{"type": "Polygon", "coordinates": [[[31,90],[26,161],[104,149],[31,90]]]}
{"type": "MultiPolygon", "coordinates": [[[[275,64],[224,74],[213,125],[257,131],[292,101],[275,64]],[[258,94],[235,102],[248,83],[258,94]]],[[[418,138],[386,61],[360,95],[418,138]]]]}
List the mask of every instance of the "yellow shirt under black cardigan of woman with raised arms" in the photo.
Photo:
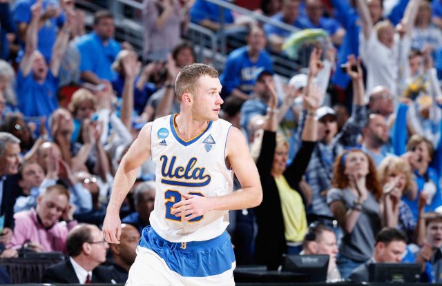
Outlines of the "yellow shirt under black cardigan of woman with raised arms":
{"type": "Polygon", "coordinates": [[[307,232],[307,217],[305,216],[302,198],[298,192],[290,187],[284,176],[274,178],[281,199],[285,240],[293,243],[302,242],[307,232]]]}

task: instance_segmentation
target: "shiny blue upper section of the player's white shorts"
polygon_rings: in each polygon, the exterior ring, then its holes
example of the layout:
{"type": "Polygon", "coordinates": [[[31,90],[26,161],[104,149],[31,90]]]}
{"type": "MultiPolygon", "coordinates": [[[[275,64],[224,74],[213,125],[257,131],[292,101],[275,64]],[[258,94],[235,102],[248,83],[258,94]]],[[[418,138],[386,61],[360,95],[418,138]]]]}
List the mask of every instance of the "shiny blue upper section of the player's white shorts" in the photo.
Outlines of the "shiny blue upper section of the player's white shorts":
{"type": "Polygon", "coordinates": [[[143,229],[138,245],[151,249],[166,261],[169,269],[184,277],[222,274],[231,269],[235,262],[227,232],[209,241],[171,243],[148,226],[143,229]]]}

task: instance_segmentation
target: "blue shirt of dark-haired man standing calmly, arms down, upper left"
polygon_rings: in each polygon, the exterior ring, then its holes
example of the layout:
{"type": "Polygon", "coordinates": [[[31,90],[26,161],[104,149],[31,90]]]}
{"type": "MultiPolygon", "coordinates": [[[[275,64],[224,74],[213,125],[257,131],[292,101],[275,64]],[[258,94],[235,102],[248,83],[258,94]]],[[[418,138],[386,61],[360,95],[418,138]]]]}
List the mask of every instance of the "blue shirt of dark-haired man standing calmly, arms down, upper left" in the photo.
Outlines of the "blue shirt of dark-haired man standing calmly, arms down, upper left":
{"type": "Polygon", "coordinates": [[[93,72],[99,79],[112,81],[117,77],[111,68],[117,54],[122,50],[121,45],[114,39],[109,39],[107,45],[103,45],[102,39],[95,32],[85,34],[77,42],[81,63],[80,72],[93,72]]]}

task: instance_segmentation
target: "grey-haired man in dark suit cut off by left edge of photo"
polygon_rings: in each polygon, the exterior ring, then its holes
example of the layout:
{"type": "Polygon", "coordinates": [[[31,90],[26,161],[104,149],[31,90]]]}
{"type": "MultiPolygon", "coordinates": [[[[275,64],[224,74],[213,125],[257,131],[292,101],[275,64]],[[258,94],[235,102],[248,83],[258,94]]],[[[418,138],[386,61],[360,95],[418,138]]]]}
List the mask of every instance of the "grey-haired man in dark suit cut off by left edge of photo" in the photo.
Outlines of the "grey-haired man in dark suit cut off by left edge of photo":
{"type": "Polygon", "coordinates": [[[14,204],[17,198],[17,176],[20,165],[20,140],[0,132],[0,252],[12,238],[14,204]]]}

